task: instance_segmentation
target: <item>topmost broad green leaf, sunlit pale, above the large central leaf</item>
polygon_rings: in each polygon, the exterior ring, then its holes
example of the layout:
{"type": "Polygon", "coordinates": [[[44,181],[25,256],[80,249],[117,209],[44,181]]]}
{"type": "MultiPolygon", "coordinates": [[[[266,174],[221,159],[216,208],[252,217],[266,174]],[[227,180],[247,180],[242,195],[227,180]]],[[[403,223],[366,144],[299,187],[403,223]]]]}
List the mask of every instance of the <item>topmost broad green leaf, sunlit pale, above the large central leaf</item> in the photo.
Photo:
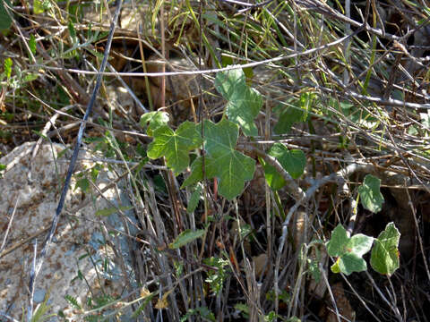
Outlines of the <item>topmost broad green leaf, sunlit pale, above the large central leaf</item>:
{"type": "Polygon", "coordinates": [[[246,85],[242,69],[219,72],[215,79],[215,88],[228,100],[228,120],[238,124],[246,136],[257,135],[254,118],[262,108],[262,96],[257,90],[246,85]]]}

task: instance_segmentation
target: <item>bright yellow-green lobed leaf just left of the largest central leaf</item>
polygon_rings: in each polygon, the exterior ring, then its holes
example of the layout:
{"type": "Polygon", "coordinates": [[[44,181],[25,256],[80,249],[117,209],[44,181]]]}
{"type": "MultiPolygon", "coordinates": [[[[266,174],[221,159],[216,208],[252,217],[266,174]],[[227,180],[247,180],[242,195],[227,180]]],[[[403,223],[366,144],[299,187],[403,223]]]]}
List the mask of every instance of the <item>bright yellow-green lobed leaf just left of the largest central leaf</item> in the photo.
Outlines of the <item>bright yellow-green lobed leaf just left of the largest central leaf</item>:
{"type": "Polygon", "coordinates": [[[198,148],[202,139],[198,125],[182,123],[176,131],[162,125],[153,131],[154,140],[148,147],[148,157],[166,157],[167,165],[175,174],[185,170],[190,163],[188,151],[198,148]]]}

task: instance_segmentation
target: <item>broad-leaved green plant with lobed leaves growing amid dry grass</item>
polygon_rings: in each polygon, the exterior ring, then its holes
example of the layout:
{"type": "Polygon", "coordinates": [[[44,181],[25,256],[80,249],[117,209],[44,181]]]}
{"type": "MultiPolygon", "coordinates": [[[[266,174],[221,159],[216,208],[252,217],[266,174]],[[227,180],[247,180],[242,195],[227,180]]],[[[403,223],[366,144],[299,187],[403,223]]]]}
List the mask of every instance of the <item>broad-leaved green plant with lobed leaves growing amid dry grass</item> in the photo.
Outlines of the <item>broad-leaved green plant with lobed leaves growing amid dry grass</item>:
{"type": "MultiPolygon", "coordinates": [[[[204,173],[207,179],[218,178],[221,196],[234,199],[243,191],[245,182],[254,177],[255,171],[255,160],[236,149],[239,127],[246,136],[257,135],[254,118],[262,107],[262,97],[258,91],[248,87],[245,73],[241,69],[219,72],[215,87],[228,101],[219,123],[213,123],[210,120],[197,124],[185,122],[174,131],[168,126],[168,114],[151,112],[142,115],[141,125],[148,135],[154,138],[148,148],[148,157],[152,159],[165,157],[168,167],[175,174],[183,172],[189,165],[191,150],[199,147],[205,150],[204,172],[202,157],[195,158],[191,165],[191,174],[183,182],[182,188],[201,182],[204,179],[204,173]],[[204,138],[202,138],[202,132],[204,138]]],[[[275,131],[288,132],[293,123],[304,122],[315,99],[314,94],[304,93],[299,98],[297,106],[289,107],[280,114],[280,121],[275,126],[275,131]]],[[[347,109],[351,107],[348,106],[347,109]]],[[[345,109],[345,105],[342,108],[345,109]]],[[[299,178],[304,173],[306,158],[302,150],[288,149],[277,142],[267,153],[276,158],[293,179],[299,178]]],[[[272,165],[265,164],[262,159],[260,162],[271,189],[276,191],[282,188],[286,182],[278,171],[272,165]]],[[[363,184],[358,188],[363,207],[374,213],[381,211],[383,205],[380,183],[380,179],[367,174],[363,184]]],[[[194,194],[192,209],[196,207],[200,193],[194,194]]],[[[182,247],[202,237],[203,234],[204,230],[195,232],[187,230],[181,233],[169,247],[171,249],[182,247]]],[[[387,225],[377,239],[361,233],[348,237],[345,228],[338,225],[331,233],[331,240],[326,243],[329,255],[336,258],[331,271],[349,275],[366,270],[366,261],[362,256],[375,244],[372,251],[372,267],[381,274],[392,275],[399,267],[399,238],[400,233],[392,223],[387,225]]],[[[309,264],[313,267],[313,274],[317,275],[317,263],[311,260],[309,264]]],[[[220,283],[223,280],[223,266],[227,263],[219,258],[211,258],[208,265],[219,267],[219,271],[211,273],[207,280],[211,287],[219,292],[220,283]]]]}

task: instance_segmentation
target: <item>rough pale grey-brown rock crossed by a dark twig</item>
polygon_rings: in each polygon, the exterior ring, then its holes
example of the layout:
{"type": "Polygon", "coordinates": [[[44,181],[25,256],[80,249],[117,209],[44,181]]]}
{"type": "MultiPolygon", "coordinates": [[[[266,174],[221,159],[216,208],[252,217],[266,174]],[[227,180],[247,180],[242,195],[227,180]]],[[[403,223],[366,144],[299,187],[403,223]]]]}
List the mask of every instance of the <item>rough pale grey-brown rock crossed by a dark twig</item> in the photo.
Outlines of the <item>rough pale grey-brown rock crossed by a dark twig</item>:
{"type": "MultiPolygon", "coordinates": [[[[22,308],[27,309],[29,303],[27,290],[35,241],[29,241],[29,237],[50,225],[70,157],[70,151],[67,151],[57,158],[64,147],[46,144],[41,146],[38,155],[32,159],[33,147],[33,142],[25,143],[0,158],[0,164],[7,165],[3,178],[0,179],[0,242],[4,241],[4,234],[16,207],[4,250],[0,253],[0,311],[20,320],[22,308]],[[20,243],[21,247],[4,254],[20,243]]],[[[84,152],[80,156],[90,157],[84,152]]],[[[105,292],[108,289],[107,294],[113,297],[124,292],[122,270],[118,268],[112,246],[120,250],[121,254],[122,250],[126,253],[126,241],[113,238],[114,242],[110,242],[111,234],[102,225],[105,221],[124,231],[124,221],[116,214],[99,218],[95,216],[95,212],[102,208],[112,208],[107,200],[116,206],[126,206],[127,201],[120,197],[118,202],[114,188],[105,191],[104,198],[98,199],[94,198],[94,192],[87,191],[84,194],[81,189],[76,189],[76,178],[79,180],[80,174],[88,174],[92,166],[94,164],[90,162],[80,162],[77,165],[54,241],[37,277],[33,297],[36,307],[48,294],[48,304],[51,306],[49,312],[57,313],[62,310],[70,320],[76,320],[76,314],[82,311],[71,308],[71,304],[64,299],[66,294],[75,298],[84,309],[89,309],[86,301],[90,297],[97,297],[101,289],[105,292]],[[80,208],[85,197],[94,201],[80,208]],[[106,263],[107,269],[103,268],[106,263]]],[[[99,172],[96,181],[99,189],[108,184],[109,174],[107,171],[99,172]]],[[[38,250],[45,236],[46,233],[37,236],[38,250]]],[[[128,263],[125,263],[125,267],[129,271],[128,263]]]]}

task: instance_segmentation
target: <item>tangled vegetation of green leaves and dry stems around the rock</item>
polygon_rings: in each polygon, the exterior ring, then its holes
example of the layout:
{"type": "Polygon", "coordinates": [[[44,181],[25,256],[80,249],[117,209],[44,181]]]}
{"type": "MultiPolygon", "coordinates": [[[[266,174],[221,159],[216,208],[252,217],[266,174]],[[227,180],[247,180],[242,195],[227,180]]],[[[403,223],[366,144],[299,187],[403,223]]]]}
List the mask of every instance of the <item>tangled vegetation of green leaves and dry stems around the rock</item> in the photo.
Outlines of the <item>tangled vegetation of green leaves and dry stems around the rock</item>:
{"type": "Polygon", "coordinates": [[[117,42],[84,139],[94,166],[74,179],[93,200],[101,172],[126,178],[132,206],[94,213],[135,260],[121,296],[65,296],[80,318],[330,320],[319,306],[340,319],[354,297],[363,320],[426,320],[425,2],[132,1],[128,30],[107,27],[110,2],[22,3],[0,0],[4,151],[73,143],[117,42]],[[107,225],[117,214],[140,233],[107,225]],[[353,295],[333,294],[342,277],[353,295]]]}

